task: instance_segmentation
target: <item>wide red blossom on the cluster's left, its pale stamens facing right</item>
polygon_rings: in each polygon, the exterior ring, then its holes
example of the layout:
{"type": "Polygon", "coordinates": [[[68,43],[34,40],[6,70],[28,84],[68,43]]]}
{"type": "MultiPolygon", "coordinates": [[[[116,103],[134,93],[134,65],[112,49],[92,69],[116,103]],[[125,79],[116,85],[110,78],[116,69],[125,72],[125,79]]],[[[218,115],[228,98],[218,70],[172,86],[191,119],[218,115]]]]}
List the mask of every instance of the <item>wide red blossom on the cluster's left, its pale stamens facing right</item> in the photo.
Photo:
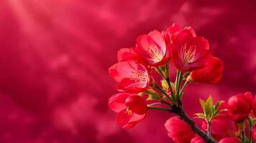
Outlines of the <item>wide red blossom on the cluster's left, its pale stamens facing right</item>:
{"type": "Polygon", "coordinates": [[[118,82],[117,87],[127,92],[143,92],[150,85],[150,72],[137,61],[121,61],[109,68],[110,76],[118,82]]]}

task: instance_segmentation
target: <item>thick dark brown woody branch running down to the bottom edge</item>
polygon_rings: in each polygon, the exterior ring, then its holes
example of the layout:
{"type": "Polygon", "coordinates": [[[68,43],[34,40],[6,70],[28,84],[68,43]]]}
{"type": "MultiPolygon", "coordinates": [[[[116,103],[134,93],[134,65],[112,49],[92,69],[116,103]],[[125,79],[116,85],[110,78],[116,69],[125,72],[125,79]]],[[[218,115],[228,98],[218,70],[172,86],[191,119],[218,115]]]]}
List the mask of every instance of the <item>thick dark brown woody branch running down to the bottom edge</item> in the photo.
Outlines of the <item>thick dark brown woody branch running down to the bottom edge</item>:
{"type": "Polygon", "coordinates": [[[188,117],[188,115],[184,112],[182,107],[172,107],[170,109],[170,112],[173,112],[174,114],[177,114],[181,119],[183,119],[193,130],[193,132],[196,132],[200,137],[204,139],[207,143],[218,143],[216,140],[214,140],[211,136],[208,136],[204,131],[202,131],[200,128],[196,126],[196,123],[188,117]]]}

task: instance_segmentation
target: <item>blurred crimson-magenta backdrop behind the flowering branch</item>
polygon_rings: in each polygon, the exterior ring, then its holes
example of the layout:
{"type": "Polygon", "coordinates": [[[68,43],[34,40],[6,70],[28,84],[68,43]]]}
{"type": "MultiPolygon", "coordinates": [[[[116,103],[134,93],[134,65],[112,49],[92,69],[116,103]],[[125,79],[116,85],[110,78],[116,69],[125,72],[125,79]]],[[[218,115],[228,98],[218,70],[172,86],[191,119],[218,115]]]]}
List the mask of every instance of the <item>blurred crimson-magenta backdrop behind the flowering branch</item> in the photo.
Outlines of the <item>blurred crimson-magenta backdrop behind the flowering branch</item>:
{"type": "Polygon", "coordinates": [[[188,87],[189,114],[211,94],[256,94],[256,2],[170,0],[1,0],[1,143],[172,142],[171,117],[151,111],[124,130],[107,107],[116,51],[173,22],[193,26],[224,60],[219,84],[188,87]]]}

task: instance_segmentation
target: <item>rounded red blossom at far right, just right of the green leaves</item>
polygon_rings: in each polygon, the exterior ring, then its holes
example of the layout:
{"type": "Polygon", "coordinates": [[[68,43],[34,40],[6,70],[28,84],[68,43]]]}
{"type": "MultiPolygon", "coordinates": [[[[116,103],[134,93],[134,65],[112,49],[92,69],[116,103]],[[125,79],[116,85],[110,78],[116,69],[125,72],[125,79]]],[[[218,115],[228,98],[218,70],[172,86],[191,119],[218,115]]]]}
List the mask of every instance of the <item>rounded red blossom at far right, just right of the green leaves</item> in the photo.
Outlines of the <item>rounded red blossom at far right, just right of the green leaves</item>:
{"type": "Polygon", "coordinates": [[[252,94],[246,92],[245,94],[237,94],[230,97],[228,101],[229,114],[234,121],[241,121],[247,119],[252,110],[252,94]]]}

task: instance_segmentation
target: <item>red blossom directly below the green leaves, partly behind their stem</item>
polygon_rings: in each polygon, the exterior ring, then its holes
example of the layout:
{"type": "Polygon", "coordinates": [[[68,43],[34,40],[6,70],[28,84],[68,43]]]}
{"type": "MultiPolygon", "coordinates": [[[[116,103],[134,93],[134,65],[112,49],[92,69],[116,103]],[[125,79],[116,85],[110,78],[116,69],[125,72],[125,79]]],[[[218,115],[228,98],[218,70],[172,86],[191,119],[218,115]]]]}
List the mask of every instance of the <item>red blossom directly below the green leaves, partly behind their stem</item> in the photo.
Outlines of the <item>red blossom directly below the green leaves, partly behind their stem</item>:
{"type": "MultiPolygon", "coordinates": [[[[204,131],[207,131],[207,123],[205,121],[202,124],[202,129],[204,129],[204,131]]],[[[211,122],[211,135],[217,141],[225,137],[234,137],[236,132],[236,124],[227,115],[221,115],[219,117],[216,117],[211,122]]]]}

